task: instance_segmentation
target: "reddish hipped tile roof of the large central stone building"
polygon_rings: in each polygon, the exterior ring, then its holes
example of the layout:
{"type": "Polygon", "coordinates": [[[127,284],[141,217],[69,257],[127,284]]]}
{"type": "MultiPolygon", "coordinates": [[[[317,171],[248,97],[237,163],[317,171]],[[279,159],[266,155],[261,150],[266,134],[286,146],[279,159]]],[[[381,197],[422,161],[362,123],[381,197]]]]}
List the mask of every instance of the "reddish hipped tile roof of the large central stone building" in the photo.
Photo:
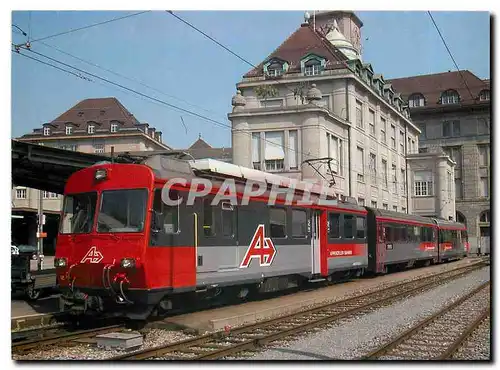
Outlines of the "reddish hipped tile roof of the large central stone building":
{"type": "Polygon", "coordinates": [[[243,77],[258,77],[264,74],[263,66],[271,58],[285,60],[289,64],[288,72],[300,71],[300,60],[309,53],[327,59],[325,69],[345,68],[346,56],[326,39],[304,23],[274,50],[257,68],[253,68],[243,77]]]}

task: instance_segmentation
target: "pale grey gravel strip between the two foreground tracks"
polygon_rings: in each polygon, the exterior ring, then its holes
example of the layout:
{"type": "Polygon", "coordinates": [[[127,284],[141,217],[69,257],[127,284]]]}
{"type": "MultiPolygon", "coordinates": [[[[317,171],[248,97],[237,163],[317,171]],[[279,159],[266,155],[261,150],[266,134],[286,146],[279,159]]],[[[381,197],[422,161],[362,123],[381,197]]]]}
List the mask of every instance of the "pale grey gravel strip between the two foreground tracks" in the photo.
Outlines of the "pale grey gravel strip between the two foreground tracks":
{"type": "MultiPolygon", "coordinates": [[[[338,321],[298,340],[274,342],[269,349],[249,359],[356,359],[489,280],[490,268],[486,267],[416,297],[338,321]]],[[[489,348],[489,343],[484,345],[489,348]]]]}

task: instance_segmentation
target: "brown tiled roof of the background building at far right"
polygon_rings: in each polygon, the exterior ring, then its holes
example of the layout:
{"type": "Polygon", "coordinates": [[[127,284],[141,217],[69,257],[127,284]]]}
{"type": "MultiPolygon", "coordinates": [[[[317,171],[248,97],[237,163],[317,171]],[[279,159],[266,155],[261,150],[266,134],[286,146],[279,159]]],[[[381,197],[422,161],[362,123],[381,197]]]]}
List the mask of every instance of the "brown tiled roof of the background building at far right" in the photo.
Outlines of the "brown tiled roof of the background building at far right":
{"type": "Polygon", "coordinates": [[[386,82],[391,83],[396,91],[401,92],[404,100],[408,100],[408,97],[414,93],[421,93],[425,97],[426,107],[438,107],[441,106],[441,94],[450,89],[458,92],[461,104],[475,104],[479,101],[479,93],[484,89],[490,88],[489,80],[487,81],[480,79],[470,71],[463,70],[461,74],[458,71],[444,72],[396,78],[386,82]],[[464,83],[464,80],[467,85],[464,83]]]}

